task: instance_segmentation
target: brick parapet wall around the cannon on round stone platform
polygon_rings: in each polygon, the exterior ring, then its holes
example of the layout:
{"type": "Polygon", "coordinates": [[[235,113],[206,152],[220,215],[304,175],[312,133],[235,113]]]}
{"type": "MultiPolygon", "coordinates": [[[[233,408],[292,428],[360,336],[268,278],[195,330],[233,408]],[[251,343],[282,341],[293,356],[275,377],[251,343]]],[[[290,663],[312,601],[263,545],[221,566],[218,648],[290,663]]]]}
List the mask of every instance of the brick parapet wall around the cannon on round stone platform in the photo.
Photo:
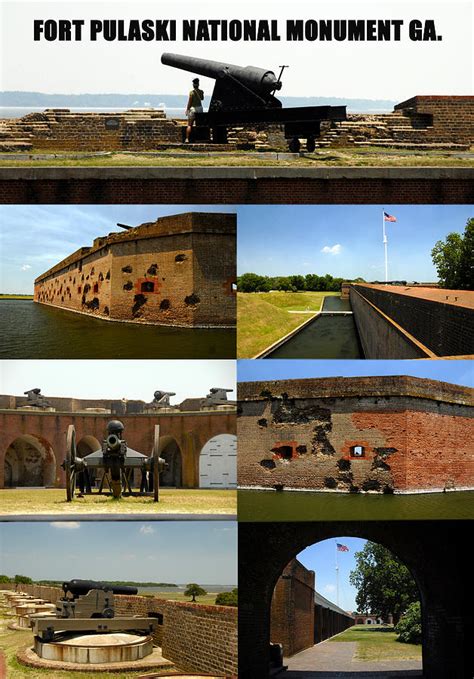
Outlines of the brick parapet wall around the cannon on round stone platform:
{"type": "MultiPolygon", "coordinates": [[[[14,585],[2,585],[14,589],[14,585]]],[[[20,585],[21,591],[53,603],[62,596],[59,587],[20,585]]],[[[116,595],[118,616],[158,614],[163,624],[154,635],[163,656],[185,672],[237,676],[237,609],[199,603],[167,601],[150,596],[116,595]]]]}

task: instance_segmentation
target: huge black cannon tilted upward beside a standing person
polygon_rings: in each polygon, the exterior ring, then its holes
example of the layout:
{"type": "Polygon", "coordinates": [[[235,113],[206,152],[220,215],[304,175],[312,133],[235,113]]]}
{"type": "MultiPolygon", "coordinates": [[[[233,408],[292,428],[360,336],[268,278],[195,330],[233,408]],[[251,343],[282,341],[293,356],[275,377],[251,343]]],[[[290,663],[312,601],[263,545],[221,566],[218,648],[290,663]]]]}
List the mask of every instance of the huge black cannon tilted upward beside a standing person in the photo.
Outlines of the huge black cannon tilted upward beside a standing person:
{"type": "Polygon", "coordinates": [[[208,111],[196,113],[195,133],[202,140],[212,137],[214,143],[225,144],[228,126],[277,124],[284,126],[290,151],[297,153],[300,139],[306,139],[306,148],[311,152],[316,148],[323,121],[346,119],[345,106],[284,107],[275,92],[282,88],[286,66],[280,66],[277,77],[273,71],[256,66],[235,66],[180,54],[164,53],[161,63],[215,79],[208,111]]]}

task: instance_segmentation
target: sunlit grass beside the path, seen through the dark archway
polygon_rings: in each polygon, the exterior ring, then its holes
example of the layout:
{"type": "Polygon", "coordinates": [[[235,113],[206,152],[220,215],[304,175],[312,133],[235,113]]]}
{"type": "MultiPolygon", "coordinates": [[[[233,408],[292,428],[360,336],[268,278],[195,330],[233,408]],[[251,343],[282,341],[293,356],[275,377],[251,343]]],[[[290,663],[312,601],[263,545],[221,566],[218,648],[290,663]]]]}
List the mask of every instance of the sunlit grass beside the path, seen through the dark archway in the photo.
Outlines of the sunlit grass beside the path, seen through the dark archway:
{"type": "Polygon", "coordinates": [[[329,641],[355,641],[356,660],[421,660],[421,644],[397,641],[393,627],[354,625],[329,641]]]}

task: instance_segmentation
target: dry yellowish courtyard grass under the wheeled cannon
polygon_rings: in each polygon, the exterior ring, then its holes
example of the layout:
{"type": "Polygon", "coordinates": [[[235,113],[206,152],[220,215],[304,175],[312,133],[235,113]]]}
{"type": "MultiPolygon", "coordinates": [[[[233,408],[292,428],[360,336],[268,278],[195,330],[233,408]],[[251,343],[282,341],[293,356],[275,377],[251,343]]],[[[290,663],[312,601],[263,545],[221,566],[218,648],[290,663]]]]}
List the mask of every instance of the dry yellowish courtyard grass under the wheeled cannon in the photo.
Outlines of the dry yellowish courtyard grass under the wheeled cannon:
{"type": "Polygon", "coordinates": [[[22,488],[0,490],[0,514],[235,514],[236,490],[163,488],[160,501],[149,497],[86,495],[66,502],[66,491],[22,488]]]}

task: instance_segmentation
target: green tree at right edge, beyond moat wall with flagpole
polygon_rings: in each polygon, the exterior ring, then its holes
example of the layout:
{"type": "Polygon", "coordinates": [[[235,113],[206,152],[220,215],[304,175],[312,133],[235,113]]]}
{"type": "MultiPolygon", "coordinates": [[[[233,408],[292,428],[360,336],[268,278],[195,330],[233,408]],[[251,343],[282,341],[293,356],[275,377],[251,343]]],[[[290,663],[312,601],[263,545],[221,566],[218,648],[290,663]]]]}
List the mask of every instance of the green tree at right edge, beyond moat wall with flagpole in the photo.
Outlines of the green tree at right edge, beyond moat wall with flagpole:
{"type": "Polygon", "coordinates": [[[474,219],[468,219],[464,234],[448,233],[431,250],[431,258],[438,272],[442,288],[451,290],[474,289],[474,219]]]}

